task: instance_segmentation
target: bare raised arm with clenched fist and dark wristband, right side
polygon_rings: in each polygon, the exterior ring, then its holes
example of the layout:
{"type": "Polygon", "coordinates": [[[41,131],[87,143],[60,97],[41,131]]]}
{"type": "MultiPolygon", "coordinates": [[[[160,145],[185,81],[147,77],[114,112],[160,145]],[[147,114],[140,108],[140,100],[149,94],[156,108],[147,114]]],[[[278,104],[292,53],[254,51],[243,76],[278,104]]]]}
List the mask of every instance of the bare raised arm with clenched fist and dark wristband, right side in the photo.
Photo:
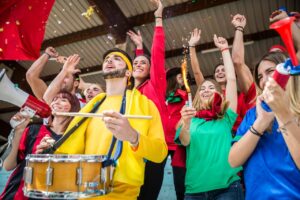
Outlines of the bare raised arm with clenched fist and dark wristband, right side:
{"type": "Polygon", "coordinates": [[[244,28],[246,26],[246,18],[244,15],[237,14],[231,21],[235,28],[234,40],[232,45],[232,61],[237,75],[237,83],[240,90],[247,94],[253,77],[249,67],[245,63],[245,47],[244,47],[244,28]]]}

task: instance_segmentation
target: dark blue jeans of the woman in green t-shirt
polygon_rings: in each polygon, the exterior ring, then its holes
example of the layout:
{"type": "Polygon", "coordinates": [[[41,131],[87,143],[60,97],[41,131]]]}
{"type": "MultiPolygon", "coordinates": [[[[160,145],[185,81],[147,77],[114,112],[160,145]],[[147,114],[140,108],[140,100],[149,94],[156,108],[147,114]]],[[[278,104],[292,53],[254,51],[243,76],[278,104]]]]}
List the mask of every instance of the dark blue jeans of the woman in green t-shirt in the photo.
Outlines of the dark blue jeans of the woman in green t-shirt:
{"type": "Polygon", "coordinates": [[[185,200],[244,200],[244,193],[240,181],[235,181],[228,188],[185,194],[185,200]]]}

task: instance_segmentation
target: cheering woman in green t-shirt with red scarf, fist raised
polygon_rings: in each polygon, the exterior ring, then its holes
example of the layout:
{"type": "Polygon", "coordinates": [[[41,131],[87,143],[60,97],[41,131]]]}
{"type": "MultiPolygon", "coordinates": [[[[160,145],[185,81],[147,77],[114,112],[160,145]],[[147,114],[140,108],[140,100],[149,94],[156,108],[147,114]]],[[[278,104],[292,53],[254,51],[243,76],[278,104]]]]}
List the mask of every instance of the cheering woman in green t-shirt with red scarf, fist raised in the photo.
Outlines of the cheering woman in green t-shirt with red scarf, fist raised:
{"type": "Polygon", "coordinates": [[[226,97],[216,81],[205,80],[197,90],[193,107],[181,110],[175,137],[187,151],[186,200],[244,199],[237,175],[241,168],[231,168],[228,163],[231,129],[237,117],[236,76],[226,39],[215,35],[214,42],[224,61],[226,97]]]}

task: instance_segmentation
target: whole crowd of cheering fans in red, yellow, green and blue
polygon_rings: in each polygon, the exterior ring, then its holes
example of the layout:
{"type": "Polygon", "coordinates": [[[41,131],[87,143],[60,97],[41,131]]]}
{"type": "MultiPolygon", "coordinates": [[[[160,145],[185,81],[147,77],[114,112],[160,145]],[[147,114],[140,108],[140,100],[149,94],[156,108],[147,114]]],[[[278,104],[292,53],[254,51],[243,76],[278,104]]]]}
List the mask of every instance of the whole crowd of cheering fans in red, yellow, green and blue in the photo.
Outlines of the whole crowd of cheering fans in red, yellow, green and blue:
{"type": "MultiPolygon", "coordinates": [[[[163,5],[161,0],[151,1],[157,8],[151,55],[143,51],[141,33],[129,31],[135,57],[132,60],[121,49],[108,50],[102,63],[105,86],[79,77],[77,54],[59,60],[64,65],[49,86],[40,75],[58,52],[48,47],[32,64],[26,80],[53,111],[103,117],[83,121],[81,116],[53,115],[43,124],[28,125],[30,120],[20,112],[13,116],[24,122],[15,128],[13,147],[3,164],[14,172],[0,199],[26,199],[26,155],[53,147],[71,130],[72,135],[54,149],[56,154],[107,155],[110,141],[123,143],[113,189],[97,199],[157,199],[168,155],[178,200],[300,199],[300,77],[292,76],[285,90],[272,78],[276,65],[289,57],[285,48],[270,47],[252,75],[245,63],[246,17],[236,14],[231,51],[225,38],[212,36],[222,63],[216,61],[211,66],[213,79],[205,79],[195,48],[205,30],[195,28],[188,43],[197,90],[189,105],[180,66],[165,65],[163,5]],[[262,101],[272,112],[262,108],[262,101]]],[[[285,17],[288,14],[279,10],[270,22],[285,17]]],[[[292,36],[300,61],[299,35],[294,22],[292,36]]]]}

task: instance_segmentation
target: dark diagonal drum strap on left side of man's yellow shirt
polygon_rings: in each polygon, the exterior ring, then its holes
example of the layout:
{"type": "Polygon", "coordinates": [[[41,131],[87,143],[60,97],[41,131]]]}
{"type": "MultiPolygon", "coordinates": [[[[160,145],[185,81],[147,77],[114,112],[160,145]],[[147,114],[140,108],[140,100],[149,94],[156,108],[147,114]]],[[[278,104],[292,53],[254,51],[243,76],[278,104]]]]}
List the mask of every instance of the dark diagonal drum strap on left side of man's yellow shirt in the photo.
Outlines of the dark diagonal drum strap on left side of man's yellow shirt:
{"type": "MultiPolygon", "coordinates": [[[[95,113],[98,110],[99,106],[103,103],[105,98],[106,96],[103,97],[101,101],[96,103],[90,113],[95,113]]],[[[56,149],[58,149],[72,135],[72,133],[74,133],[74,131],[86,120],[87,117],[82,118],[75,126],[73,126],[67,133],[65,133],[58,141],[56,141],[52,147],[45,149],[43,151],[43,154],[53,154],[56,151],[56,149]]]]}

